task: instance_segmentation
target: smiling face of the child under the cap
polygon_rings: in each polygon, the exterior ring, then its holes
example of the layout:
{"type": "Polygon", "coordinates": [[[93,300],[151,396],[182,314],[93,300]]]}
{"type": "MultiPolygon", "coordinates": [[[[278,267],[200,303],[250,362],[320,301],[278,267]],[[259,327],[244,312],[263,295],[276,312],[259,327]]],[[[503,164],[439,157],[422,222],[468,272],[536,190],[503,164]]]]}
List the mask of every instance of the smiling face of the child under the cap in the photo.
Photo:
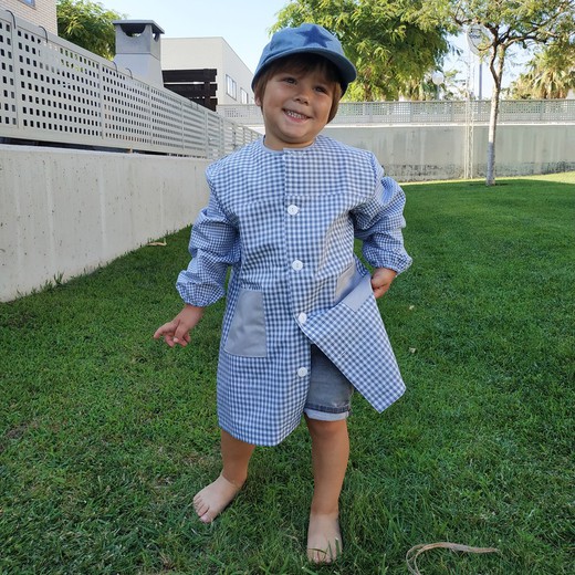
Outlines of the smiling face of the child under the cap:
{"type": "Polygon", "coordinates": [[[275,73],[265,84],[261,106],[265,146],[271,149],[303,148],[313,144],[327,124],[334,85],[320,71],[275,73]]]}

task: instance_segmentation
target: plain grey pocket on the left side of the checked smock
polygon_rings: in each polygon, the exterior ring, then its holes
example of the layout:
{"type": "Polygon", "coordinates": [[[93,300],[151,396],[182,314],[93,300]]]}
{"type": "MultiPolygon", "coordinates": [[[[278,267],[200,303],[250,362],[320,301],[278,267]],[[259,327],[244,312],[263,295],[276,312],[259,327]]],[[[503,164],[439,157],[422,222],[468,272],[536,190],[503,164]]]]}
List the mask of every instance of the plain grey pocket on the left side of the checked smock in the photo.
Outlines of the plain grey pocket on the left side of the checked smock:
{"type": "Polygon", "coordinates": [[[268,355],[262,292],[240,290],[223,349],[242,357],[268,355]]]}

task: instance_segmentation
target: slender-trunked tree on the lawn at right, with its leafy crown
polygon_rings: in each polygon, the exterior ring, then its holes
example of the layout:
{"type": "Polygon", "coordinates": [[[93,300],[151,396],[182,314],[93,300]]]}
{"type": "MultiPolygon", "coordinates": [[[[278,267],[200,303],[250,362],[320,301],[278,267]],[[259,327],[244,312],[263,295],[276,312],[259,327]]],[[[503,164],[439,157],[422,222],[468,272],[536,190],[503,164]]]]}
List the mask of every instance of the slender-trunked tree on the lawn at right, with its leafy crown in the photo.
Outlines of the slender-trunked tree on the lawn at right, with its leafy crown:
{"type": "MultiPolygon", "coordinates": [[[[445,8],[446,0],[435,0],[445,8]]],[[[512,46],[527,48],[555,42],[572,45],[575,30],[575,0],[447,0],[449,18],[458,27],[482,25],[480,50],[485,55],[493,92],[488,137],[485,182],[495,184],[495,132],[505,56],[512,46]]]]}

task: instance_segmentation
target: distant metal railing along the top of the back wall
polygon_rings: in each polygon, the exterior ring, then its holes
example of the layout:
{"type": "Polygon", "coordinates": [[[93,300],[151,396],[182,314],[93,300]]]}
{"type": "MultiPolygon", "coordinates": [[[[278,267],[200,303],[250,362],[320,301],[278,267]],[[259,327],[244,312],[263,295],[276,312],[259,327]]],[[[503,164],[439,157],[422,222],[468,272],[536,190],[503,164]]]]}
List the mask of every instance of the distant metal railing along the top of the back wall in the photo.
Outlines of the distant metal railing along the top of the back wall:
{"type": "MultiPolygon", "coordinates": [[[[489,101],[342,102],[332,124],[489,123],[489,101]]],[[[255,104],[218,106],[218,114],[247,126],[263,124],[255,104]]],[[[575,100],[506,100],[500,124],[575,123],[575,100]]]]}

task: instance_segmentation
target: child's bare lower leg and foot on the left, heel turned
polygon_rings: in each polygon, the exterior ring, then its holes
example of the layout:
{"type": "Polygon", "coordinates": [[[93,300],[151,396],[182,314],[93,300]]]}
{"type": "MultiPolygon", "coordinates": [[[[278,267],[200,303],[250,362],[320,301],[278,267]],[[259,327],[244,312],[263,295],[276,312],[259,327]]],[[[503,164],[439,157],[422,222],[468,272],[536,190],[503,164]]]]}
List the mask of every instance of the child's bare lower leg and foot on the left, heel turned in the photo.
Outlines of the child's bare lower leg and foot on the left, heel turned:
{"type": "Polygon", "coordinates": [[[221,473],[194,498],[194,509],[200,521],[211,523],[233,501],[248,477],[254,447],[221,430],[221,473]]]}

